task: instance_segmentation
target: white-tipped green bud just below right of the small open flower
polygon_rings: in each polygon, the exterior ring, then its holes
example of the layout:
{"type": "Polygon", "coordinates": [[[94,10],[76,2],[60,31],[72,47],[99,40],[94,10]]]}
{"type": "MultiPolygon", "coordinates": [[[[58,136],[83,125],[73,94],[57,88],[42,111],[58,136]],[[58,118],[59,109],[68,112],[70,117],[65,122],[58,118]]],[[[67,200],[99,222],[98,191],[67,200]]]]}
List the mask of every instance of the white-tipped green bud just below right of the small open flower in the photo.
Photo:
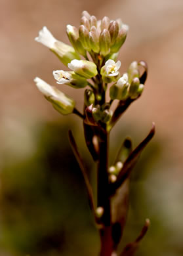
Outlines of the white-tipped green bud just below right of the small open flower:
{"type": "Polygon", "coordinates": [[[117,83],[112,85],[110,88],[110,97],[112,100],[125,100],[128,95],[128,89],[129,89],[129,81],[128,81],[128,74],[125,73],[117,83]]]}

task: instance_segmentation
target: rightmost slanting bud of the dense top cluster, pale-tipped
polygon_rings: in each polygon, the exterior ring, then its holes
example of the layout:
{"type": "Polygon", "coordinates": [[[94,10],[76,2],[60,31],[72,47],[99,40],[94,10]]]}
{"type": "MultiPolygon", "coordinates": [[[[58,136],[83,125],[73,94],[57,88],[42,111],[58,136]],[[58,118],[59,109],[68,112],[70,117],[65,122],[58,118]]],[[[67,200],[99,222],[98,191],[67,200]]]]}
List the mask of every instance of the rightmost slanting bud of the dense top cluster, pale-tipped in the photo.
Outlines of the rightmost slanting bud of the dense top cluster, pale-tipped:
{"type": "Polygon", "coordinates": [[[128,30],[129,26],[125,24],[122,26],[121,30],[119,30],[115,43],[111,47],[111,53],[119,52],[121,46],[123,45],[123,43],[125,43],[128,30]]]}

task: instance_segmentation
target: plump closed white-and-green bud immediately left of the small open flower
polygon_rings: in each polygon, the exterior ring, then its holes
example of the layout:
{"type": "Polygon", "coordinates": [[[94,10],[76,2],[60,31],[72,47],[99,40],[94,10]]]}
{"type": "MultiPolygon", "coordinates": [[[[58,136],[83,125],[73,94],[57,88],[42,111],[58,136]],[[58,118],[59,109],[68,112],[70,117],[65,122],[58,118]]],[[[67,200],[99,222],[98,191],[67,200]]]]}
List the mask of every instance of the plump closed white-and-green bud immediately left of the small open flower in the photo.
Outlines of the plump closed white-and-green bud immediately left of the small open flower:
{"type": "Polygon", "coordinates": [[[98,73],[96,64],[89,60],[72,60],[68,64],[68,68],[85,78],[94,77],[98,73]]]}

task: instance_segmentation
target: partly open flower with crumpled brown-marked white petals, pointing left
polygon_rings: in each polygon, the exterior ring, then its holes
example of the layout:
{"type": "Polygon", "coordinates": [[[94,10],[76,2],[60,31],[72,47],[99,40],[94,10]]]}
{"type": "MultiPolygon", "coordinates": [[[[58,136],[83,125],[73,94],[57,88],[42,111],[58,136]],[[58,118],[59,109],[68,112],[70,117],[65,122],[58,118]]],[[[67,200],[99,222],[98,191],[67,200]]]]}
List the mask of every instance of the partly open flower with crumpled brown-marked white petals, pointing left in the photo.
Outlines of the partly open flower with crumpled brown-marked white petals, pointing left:
{"type": "Polygon", "coordinates": [[[87,86],[88,82],[81,75],[75,74],[73,71],[54,70],[52,72],[56,83],[70,85],[73,88],[83,88],[87,86]]]}

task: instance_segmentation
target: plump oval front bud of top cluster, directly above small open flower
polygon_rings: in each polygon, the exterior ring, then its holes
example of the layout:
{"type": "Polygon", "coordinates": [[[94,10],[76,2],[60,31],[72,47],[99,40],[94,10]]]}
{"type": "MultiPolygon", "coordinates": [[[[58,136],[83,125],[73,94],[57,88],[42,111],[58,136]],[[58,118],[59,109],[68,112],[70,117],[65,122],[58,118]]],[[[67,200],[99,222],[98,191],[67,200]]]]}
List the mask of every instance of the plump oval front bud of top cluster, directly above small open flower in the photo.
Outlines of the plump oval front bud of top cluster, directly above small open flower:
{"type": "Polygon", "coordinates": [[[111,43],[111,37],[110,37],[110,32],[108,30],[104,29],[100,33],[100,53],[103,56],[106,56],[107,54],[110,53],[110,43],[111,43]]]}

